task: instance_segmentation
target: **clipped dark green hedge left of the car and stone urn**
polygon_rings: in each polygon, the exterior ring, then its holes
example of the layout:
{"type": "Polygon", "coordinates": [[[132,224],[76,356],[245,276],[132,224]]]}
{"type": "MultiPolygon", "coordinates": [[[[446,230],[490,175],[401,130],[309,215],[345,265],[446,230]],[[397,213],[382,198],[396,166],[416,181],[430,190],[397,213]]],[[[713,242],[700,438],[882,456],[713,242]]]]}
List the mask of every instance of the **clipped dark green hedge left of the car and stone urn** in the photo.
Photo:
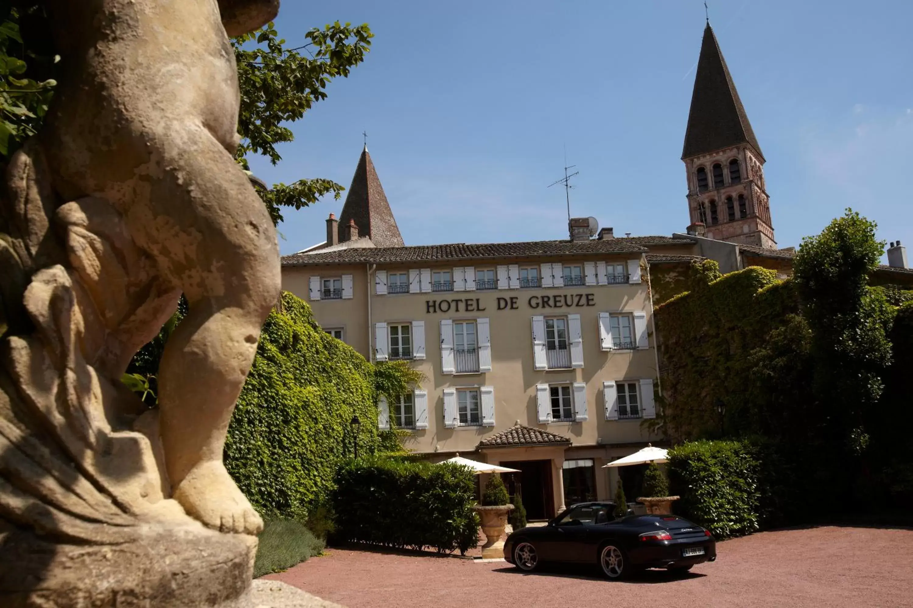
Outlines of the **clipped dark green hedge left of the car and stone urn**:
{"type": "Polygon", "coordinates": [[[460,553],[477,544],[475,480],[466,467],[369,457],[343,465],[335,480],[335,541],[460,553]]]}

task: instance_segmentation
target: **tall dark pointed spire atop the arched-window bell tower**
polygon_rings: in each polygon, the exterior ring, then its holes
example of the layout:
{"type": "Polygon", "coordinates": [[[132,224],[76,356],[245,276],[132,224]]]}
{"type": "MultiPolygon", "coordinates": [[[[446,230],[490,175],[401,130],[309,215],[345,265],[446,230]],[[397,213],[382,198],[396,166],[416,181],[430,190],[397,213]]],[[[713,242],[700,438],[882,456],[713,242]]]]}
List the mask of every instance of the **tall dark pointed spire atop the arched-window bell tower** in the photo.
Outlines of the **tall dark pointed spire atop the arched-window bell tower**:
{"type": "Polygon", "coordinates": [[[704,28],[682,159],[748,143],[761,155],[710,23],[704,28]]]}

